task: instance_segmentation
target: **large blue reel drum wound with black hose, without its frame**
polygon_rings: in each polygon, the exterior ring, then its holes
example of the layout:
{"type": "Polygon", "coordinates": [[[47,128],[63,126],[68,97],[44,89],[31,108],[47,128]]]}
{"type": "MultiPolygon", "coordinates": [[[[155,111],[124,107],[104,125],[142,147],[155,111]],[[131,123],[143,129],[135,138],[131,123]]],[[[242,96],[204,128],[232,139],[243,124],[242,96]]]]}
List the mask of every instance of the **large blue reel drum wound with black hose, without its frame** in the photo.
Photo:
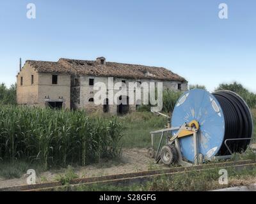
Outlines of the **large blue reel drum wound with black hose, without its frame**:
{"type": "MultiPolygon", "coordinates": [[[[202,89],[184,92],[173,110],[171,126],[179,127],[192,120],[199,124],[198,152],[210,160],[214,156],[245,150],[252,138],[250,109],[234,92],[220,91],[211,94],[202,89]],[[228,148],[225,147],[225,140],[230,140],[228,148]]],[[[175,134],[177,131],[172,131],[172,136],[175,134]]],[[[179,145],[182,156],[194,162],[193,137],[179,138],[179,145]]]]}

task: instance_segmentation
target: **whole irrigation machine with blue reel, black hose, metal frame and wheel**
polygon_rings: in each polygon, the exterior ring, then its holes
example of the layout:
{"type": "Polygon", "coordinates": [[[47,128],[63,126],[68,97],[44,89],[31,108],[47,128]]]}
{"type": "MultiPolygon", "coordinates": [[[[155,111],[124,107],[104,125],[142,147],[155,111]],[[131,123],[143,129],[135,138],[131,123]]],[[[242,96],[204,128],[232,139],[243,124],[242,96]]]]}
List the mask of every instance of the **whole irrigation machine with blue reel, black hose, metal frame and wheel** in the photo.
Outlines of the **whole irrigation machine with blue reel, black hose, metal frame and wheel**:
{"type": "Polygon", "coordinates": [[[152,131],[148,151],[156,163],[193,166],[212,160],[229,159],[246,150],[252,139],[253,120],[246,102],[234,92],[213,94],[193,89],[184,92],[175,105],[166,129],[152,131]],[[154,140],[160,135],[157,150],[154,140]],[[165,142],[164,142],[165,141],[165,142]]]}

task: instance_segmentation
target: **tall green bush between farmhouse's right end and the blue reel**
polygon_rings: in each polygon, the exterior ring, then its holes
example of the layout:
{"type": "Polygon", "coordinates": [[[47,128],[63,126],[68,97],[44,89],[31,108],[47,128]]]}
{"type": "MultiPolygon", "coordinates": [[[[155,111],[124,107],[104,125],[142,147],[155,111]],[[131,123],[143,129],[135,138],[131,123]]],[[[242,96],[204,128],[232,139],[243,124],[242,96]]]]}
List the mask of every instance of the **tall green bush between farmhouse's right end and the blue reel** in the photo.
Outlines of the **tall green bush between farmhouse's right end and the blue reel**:
{"type": "Polygon", "coordinates": [[[171,113],[173,109],[182,95],[181,91],[172,91],[170,89],[166,89],[163,91],[163,112],[171,113]]]}

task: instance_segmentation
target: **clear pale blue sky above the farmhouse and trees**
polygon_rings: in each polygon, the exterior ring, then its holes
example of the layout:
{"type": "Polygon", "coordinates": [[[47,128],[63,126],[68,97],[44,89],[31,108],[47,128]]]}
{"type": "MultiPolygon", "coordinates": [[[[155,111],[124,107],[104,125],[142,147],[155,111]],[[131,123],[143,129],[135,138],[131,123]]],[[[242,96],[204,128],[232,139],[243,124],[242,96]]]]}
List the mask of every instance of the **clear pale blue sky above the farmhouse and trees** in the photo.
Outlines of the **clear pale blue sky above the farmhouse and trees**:
{"type": "Polygon", "coordinates": [[[163,66],[213,91],[241,82],[256,92],[255,0],[1,0],[0,82],[15,83],[19,57],[163,66]],[[36,19],[26,18],[28,3],[36,19]],[[218,17],[220,3],[228,19],[218,17]]]}

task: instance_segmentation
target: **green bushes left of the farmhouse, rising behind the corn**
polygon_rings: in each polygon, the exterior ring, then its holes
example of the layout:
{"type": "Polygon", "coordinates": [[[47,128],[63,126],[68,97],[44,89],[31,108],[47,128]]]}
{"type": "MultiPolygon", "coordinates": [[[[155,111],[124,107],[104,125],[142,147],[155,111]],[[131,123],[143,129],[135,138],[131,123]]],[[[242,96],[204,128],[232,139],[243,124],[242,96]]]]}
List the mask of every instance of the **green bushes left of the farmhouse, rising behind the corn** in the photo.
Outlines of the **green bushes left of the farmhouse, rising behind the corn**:
{"type": "Polygon", "coordinates": [[[16,105],[16,84],[9,89],[3,83],[0,85],[0,105],[16,105]]]}

